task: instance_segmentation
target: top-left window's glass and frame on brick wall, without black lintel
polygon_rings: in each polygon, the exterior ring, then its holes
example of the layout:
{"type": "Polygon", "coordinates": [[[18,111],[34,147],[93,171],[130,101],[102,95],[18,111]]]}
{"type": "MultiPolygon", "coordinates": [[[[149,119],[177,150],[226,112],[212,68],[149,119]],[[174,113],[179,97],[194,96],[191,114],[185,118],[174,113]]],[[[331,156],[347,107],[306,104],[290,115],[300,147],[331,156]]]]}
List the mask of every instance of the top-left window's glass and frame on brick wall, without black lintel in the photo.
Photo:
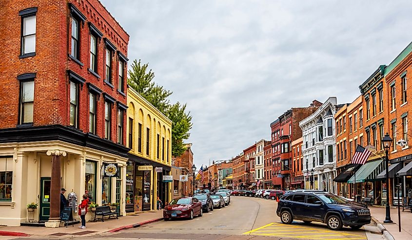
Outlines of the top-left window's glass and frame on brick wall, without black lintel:
{"type": "Polygon", "coordinates": [[[24,16],[21,26],[21,55],[36,52],[36,15],[24,16]]]}

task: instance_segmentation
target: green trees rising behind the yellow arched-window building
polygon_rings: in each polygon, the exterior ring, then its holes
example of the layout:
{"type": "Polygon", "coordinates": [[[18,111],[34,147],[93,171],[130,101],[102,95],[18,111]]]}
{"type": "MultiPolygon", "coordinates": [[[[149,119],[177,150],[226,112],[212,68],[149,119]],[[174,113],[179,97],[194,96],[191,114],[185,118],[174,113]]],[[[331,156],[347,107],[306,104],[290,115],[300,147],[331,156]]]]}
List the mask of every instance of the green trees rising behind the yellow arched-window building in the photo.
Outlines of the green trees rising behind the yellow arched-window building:
{"type": "Polygon", "coordinates": [[[159,111],[172,120],[172,156],[180,156],[186,150],[183,139],[188,139],[192,129],[192,116],[186,113],[186,104],[179,102],[171,105],[168,97],[173,93],[155,84],[155,73],[149,63],[134,60],[129,70],[128,84],[159,111]]]}

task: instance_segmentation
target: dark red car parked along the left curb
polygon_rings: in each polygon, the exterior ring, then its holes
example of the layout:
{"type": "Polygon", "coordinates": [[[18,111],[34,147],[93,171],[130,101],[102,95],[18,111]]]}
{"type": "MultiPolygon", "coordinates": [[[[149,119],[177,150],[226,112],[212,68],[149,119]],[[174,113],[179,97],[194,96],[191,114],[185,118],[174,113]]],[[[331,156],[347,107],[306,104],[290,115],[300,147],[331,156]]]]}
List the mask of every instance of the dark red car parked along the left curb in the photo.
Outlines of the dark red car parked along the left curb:
{"type": "Polygon", "coordinates": [[[193,219],[195,215],[203,216],[202,203],[196,198],[175,198],[163,209],[164,220],[172,218],[193,219]]]}

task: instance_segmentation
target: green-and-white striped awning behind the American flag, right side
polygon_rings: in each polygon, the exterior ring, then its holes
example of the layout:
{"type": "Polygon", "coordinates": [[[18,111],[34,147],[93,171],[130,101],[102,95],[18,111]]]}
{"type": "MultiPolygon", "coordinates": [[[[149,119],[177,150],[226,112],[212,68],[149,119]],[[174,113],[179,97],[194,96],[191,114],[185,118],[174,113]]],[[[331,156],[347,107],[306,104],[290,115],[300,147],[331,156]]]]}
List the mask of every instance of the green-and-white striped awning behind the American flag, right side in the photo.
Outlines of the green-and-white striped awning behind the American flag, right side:
{"type": "Polygon", "coordinates": [[[373,182],[378,179],[376,176],[385,169],[385,162],[383,159],[375,160],[373,162],[368,162],[362,165],[356,174],[353,174],[351,179],[348,180],[349,184],[353,184],[356,177],[356,183],[373,182]]]}

